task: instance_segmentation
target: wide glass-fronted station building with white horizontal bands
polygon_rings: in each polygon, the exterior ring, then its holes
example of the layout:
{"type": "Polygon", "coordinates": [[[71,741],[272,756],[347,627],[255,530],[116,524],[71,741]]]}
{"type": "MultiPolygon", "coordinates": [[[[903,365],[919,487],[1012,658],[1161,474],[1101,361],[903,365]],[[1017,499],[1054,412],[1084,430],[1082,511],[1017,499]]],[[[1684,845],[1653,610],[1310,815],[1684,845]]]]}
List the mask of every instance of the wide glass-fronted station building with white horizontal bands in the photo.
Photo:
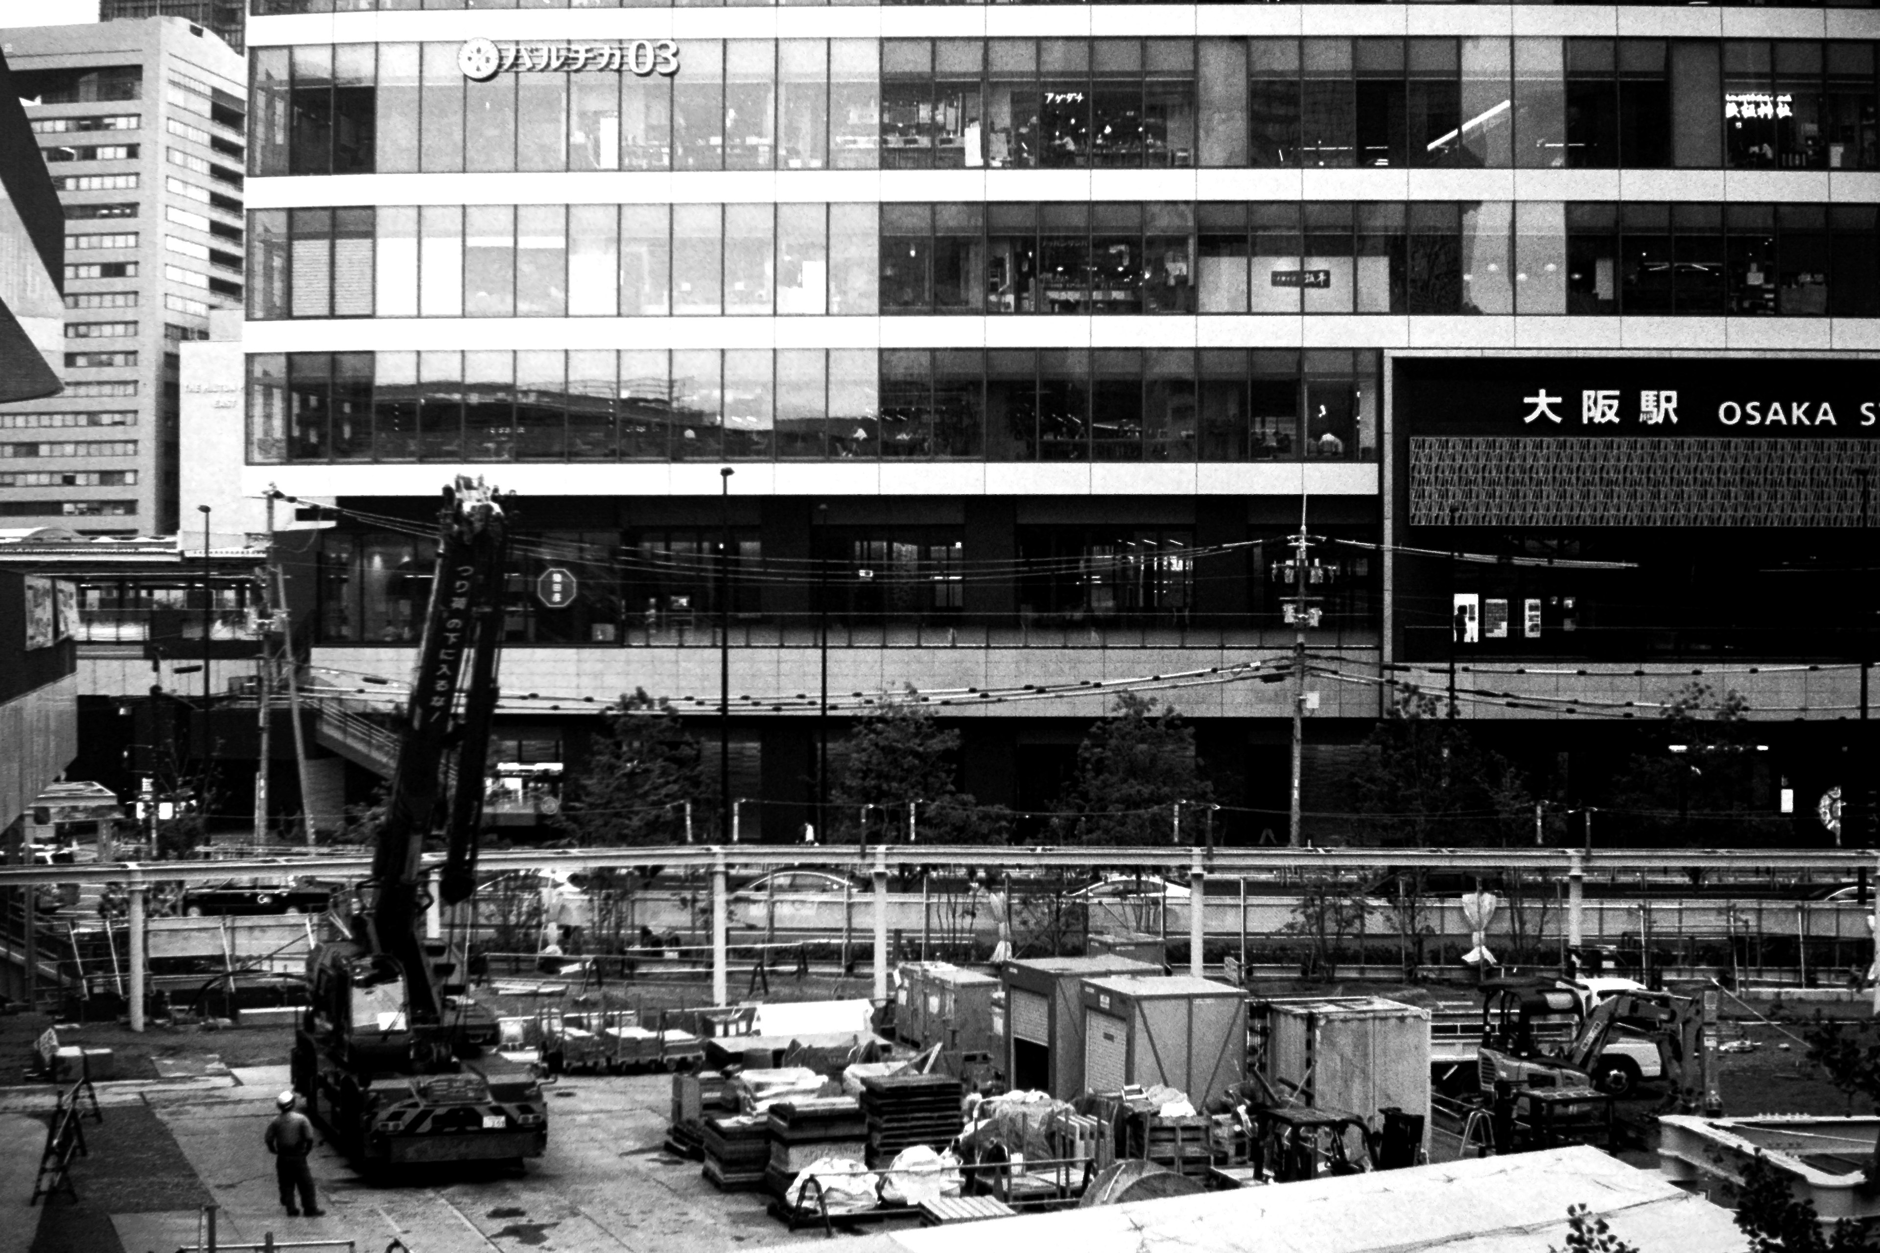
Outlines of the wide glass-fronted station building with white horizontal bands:
{"type": "Polygon", "coordinates": [[[248,24],[243,492],[342,509],[340,676],[440,483],[519,492],[502,761],[635,688],[714,742],[729,629],[746,834],[825,693],[1042,812],[1134,680],[1284,838],[1303,594],[1316,808],[1408,686],[1575,780],[1688,682],[1745,804],[1852,768],[1874,9],[344,8],[248,24]]]}

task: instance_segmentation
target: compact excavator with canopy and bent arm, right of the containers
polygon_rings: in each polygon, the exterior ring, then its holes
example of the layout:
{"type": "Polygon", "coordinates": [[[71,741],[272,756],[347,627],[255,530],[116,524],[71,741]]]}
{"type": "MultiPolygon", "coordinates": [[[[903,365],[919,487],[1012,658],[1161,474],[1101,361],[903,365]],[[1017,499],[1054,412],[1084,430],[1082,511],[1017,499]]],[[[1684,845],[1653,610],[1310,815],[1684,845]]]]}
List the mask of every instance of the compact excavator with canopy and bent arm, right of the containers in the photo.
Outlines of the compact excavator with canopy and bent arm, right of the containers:
{"type": "Polygon", "coordinates": [[[1598,1106],[1594,1078],[1611,1065],[1615,1039],[1626,1037],[1656,1046],[1660,1075],[1669,1086],[1664,1112],[1718,1118],[1724,1112],[1716,1084],[1718,1001],[1715,986],[1696,986],[1690,996],[1624,988],[1583,1009],[1570,988],[1510,986],[1483,1009],[1481,1091],[1512,1101],[1513,1112],[1527,1112],[1530,1125],[1542,1122],[1532,1118],[1542,1106],[1585,1116],[1598,1106]],[[1498,1005],[1500,1013],[1489,1005],[1498,1005]],[[1579,1028],[1566,1046],[1545,1050],[1543,1026],[1579,1013],[1579,1028]]]}

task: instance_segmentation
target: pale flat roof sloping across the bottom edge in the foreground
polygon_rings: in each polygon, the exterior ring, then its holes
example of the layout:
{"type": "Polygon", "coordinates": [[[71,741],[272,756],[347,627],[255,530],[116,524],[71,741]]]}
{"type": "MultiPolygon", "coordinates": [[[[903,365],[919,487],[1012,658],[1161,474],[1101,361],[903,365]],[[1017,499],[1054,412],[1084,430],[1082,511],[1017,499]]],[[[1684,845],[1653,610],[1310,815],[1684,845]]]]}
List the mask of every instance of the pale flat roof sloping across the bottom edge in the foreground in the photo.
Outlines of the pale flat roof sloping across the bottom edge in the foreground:
{"type": "MultiPolygon", "coordinates": [[[[1241,1191],[901,1230],[863,1253],[1547,1253],[1583,1204],[1639,1253],[1747,1253],[1730,1210],[1585,1144],[1241,1191]]],[[[854,1242],[848,1245],[854,1253],[854,1242]]]]}

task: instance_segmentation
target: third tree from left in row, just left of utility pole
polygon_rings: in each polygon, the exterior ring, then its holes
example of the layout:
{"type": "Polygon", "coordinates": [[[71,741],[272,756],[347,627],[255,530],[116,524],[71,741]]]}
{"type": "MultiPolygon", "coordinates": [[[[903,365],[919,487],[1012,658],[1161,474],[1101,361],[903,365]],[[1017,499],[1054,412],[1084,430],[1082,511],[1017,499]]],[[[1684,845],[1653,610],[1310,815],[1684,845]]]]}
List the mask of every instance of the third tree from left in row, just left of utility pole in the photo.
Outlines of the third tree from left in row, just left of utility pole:
{"type": "Polygon", "coordinates": [[[1213,795],[1194,757],[1194,729],[1173,708],[1124,691],[1117,712],[1077,746],[1077,774],[1051,825],[1064,843],[1167,843],[1175,802],[1207,804],[1213,795]]]}

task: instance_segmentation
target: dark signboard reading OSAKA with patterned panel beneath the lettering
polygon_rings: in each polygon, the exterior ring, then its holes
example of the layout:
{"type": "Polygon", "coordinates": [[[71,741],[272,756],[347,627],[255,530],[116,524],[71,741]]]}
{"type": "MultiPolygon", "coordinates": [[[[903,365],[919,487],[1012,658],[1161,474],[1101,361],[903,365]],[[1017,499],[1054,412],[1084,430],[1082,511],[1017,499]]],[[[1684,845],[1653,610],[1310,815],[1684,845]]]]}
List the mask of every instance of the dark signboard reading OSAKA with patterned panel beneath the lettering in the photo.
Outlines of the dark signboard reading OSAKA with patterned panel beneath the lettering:
{"type": "Polygon", "coordinates": [[[1867,361],[1399,357],[1391,428],[1408,445],[1410,526],[1876,520],[1863,472],[1880,470],[1880,370],[1867,361]]]}

